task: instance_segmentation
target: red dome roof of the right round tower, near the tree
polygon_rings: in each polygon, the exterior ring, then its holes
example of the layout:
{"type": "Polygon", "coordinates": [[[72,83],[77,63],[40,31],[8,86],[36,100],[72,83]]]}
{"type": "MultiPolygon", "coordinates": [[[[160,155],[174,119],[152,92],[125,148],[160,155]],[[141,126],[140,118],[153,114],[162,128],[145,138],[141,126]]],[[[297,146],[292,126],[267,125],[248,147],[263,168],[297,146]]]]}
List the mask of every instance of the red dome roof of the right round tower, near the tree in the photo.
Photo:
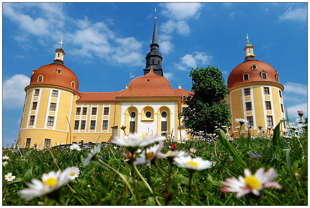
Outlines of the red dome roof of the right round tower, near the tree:
{"type": "Polygon", "coordinates": [[[268,63],[257,60],[245,61],[235,67],[232,72],[230,72],[227,80],[227,86],[228,88],[231,88],[232,86],[253,81],[278,83],[275,75],[277,75],[277,72],[268,63]],[[256,70],[252,70],[252,65],[256,65],[256,70]],[[267,79],[261,78],[261,72],[267,73],[267,79]],[[242,75],[245,73],[249,73],[249,80],[243,81],[242,75]]]}

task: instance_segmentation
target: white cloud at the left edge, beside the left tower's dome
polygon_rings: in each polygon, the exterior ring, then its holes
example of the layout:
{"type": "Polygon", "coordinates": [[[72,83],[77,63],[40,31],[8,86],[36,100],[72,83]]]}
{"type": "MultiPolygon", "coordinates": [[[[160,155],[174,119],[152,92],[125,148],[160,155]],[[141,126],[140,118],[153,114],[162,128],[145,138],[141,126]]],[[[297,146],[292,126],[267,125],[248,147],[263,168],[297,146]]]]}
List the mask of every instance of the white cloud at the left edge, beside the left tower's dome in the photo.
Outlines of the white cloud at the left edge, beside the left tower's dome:
{"type": "Polygon", "coordinates": [[[25,87],[30,83],[30,78],[23,74],[15,74],[10,79],[2,82],[3,108],[22,108],[25,101],[25,87]]]}

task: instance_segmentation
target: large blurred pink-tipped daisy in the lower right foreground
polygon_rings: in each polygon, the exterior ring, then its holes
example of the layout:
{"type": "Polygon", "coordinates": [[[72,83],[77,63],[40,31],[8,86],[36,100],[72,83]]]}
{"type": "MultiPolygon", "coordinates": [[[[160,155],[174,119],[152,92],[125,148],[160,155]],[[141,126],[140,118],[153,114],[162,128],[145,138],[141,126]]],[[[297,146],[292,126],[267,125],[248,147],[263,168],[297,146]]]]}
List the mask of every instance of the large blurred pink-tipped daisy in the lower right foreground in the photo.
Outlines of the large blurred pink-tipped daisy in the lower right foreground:
{"type": "Polygon", "coordinates": [[[273,182],[278,174],[275,172],[274,168],[268,169],[265,173],[265,168],[259,168],[254,175],[251,174],[249,169],[244,169],[244,175],[239,176],[238,179],[235,177],[227,178],[221,183],[224,186],[221,190],[223,192],[237,193],[236,196],[240,198],[241,196],[252,192],[254,195],[259,196],[260,192],[265,187],[275,187],[281,189],[282,187],[278,182],[273,182]]]}

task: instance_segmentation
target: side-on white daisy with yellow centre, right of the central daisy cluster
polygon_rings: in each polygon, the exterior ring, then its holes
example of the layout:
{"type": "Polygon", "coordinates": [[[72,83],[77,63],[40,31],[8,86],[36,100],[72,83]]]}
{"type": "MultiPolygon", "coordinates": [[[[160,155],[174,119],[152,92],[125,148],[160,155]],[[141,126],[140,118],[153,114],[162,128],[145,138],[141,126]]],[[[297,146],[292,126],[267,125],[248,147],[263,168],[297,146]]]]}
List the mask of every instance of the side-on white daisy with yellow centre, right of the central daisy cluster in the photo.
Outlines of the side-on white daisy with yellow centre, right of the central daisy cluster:
{"type": "Polygon", "coordinates": [[[191,156],[181,156],[173,160],[176,166],[185,168],[191,173],[196,170],[204,170],[212,167],[212,162],[210,160],[204,160],[201,157],[192,158],[191,156]]]}

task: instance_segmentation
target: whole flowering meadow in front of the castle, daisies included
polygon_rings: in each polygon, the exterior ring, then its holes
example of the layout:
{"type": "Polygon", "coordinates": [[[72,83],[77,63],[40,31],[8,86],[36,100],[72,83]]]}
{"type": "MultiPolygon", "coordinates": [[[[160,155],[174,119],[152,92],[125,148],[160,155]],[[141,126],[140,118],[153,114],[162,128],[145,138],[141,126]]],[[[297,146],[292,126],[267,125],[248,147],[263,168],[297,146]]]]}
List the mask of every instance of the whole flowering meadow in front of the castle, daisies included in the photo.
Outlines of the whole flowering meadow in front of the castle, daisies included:
{"type": "Polygon", "coordinates": [[[307,119],[284,134],[280,125],[255,136],[196,132],[181,143],[145,134],[4,148],[2,205],[308,205],[307,119]]]}

